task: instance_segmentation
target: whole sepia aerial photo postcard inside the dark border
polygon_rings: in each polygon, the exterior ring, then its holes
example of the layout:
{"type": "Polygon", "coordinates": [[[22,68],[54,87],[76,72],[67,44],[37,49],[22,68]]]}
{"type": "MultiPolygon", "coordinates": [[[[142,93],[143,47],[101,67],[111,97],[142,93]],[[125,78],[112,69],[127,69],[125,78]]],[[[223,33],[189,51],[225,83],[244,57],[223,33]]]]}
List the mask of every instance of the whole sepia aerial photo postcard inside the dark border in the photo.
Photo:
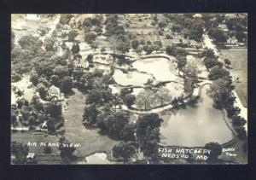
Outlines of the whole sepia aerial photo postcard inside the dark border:
{"type": "Polygon", "coordinates": [[[12,165],[247,164],[247,14],[12,14],[12,165]]]}

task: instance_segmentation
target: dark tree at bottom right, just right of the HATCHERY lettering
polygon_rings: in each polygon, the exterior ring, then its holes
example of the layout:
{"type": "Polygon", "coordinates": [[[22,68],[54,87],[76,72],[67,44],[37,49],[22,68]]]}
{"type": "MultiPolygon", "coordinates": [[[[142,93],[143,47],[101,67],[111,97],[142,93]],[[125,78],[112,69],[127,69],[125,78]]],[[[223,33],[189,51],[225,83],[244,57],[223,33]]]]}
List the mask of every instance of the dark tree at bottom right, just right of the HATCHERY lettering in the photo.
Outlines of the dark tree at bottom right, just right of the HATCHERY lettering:
{"type": "Polygon", "coordinates": [[[222,148],[218,144],[218,142],[209,142],[205,145],[205,149],[211,150],[208,161],[216,162],[218,160],[218,156],[222,154],[222,148]]]}

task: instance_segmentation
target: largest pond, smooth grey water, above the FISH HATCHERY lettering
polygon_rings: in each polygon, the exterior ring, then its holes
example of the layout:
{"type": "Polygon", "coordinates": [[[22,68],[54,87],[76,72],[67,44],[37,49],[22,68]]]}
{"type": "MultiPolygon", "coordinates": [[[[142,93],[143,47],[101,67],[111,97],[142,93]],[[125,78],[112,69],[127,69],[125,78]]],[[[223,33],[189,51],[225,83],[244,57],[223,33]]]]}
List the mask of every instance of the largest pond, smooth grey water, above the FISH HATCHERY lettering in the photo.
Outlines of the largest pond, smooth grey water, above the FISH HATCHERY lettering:
{"type": "Polygon", "coordinates": [[[212,107],[208,88],[206,85],[201,90],[196,107],[187,106],[175,113],[160,115],[164,120],[160,127],[162,145],[197,147],[205,146],[207,142],[229,142],[233,138],[225,124],[224,113],[212,107]]]}

